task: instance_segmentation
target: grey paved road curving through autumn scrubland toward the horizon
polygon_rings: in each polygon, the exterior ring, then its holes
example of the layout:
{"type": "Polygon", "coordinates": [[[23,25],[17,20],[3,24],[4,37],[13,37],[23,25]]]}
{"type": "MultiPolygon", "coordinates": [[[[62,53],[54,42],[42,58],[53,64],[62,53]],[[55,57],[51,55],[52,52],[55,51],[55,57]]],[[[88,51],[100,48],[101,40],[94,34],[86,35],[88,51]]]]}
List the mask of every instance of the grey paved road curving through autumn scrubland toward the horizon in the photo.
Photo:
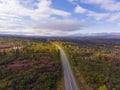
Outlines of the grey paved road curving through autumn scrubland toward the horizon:
{"type": "Polygon", "coordinates": [[[62,59],[62,67],[63,67],[63,73],[64,73],[64,82],[65,82],[65,88],[66,90],[78,90],[73,72],[71,70],[68,58],[63,51],[63,49],[56,45],[56,47],[60,50],[61,59],[62,59]]]}

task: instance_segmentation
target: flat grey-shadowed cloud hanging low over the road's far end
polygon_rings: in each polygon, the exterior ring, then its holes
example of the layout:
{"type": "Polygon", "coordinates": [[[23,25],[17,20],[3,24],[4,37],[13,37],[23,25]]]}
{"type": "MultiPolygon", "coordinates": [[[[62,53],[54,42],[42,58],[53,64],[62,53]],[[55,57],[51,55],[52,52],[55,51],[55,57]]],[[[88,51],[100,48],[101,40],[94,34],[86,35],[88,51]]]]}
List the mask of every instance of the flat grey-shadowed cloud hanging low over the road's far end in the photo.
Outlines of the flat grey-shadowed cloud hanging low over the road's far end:
{"type": "Polygon", "coordinates": [[[37,29],[49,29],[57,31],[75,31],[80,30],[83,26],[83,22],[76,19],[64,19],[64,20],[50,20],[46,23],[37,24],[34,28],[37,29]]]}

